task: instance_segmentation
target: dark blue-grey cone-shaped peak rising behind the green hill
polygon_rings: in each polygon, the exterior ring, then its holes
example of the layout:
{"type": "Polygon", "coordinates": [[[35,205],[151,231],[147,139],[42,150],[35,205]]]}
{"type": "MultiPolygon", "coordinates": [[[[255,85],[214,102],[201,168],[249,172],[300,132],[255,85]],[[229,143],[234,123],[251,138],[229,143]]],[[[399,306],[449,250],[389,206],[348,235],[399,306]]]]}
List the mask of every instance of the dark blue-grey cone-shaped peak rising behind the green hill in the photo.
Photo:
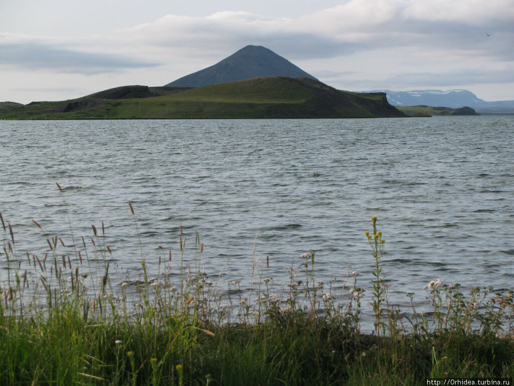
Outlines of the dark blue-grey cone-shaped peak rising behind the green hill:
{"type": "Polygon", "coordinates": [[[221,62],[179,78],[166,86],[200,87],[268,76],[303,77],[317,80],[270,49],[248,45],[221,62]]]}

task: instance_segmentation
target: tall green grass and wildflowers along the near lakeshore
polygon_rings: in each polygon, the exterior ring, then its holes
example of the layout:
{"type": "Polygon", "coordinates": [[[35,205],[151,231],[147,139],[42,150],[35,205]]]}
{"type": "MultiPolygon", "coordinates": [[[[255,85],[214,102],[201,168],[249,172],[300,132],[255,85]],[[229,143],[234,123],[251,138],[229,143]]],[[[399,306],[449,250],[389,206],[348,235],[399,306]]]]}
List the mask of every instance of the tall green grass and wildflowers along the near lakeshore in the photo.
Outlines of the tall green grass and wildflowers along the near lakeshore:
{"type": "MultiPolygon", "coordinates": [[[[334,283],[318,282],[311,252],[289,268],[288,283],[255,277],[247,293],[229,282],[232,295],[219,291],[219,276],[183,264],[182,234],[178,272],[162,251],[150,278],[141,250],[141,279],[131,280],[116,277],[95,226],[90,242],[71,236],[74,252],[53,235],[37,256],[17,251],[11,225],[0,219],[10,268],[0,289],[2,385],[421,385],[426,377],[514,371],[512,291],[464,293],[434,280],[423,311],[400,312],[388,302],[376,218],[366,233],[372,283],[360,287],[358,272],[348,272],[334,293],[334,283]],[[371,334],[360,329],[366,291],[371,334]]],[[[198,237],[192,249],[201,259],[198,237]]]]}

